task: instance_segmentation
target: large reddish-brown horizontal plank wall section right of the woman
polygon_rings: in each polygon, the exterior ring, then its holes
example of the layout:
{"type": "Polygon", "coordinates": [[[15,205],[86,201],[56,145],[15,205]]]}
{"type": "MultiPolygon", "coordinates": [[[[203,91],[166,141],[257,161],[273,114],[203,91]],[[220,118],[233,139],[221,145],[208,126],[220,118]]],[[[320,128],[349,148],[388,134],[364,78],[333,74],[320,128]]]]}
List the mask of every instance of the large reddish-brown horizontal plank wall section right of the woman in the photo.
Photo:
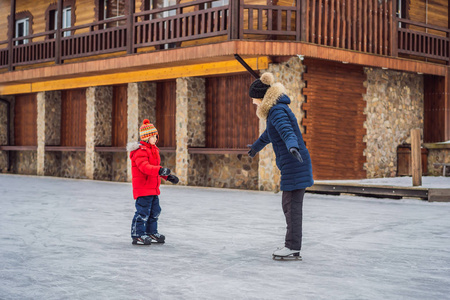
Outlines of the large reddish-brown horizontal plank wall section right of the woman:
{"type": "Polygon", "coordinates": [[[314,178],[365,178],[365,74],[361,66],[305,59],[304,140],[314,178]]]}

